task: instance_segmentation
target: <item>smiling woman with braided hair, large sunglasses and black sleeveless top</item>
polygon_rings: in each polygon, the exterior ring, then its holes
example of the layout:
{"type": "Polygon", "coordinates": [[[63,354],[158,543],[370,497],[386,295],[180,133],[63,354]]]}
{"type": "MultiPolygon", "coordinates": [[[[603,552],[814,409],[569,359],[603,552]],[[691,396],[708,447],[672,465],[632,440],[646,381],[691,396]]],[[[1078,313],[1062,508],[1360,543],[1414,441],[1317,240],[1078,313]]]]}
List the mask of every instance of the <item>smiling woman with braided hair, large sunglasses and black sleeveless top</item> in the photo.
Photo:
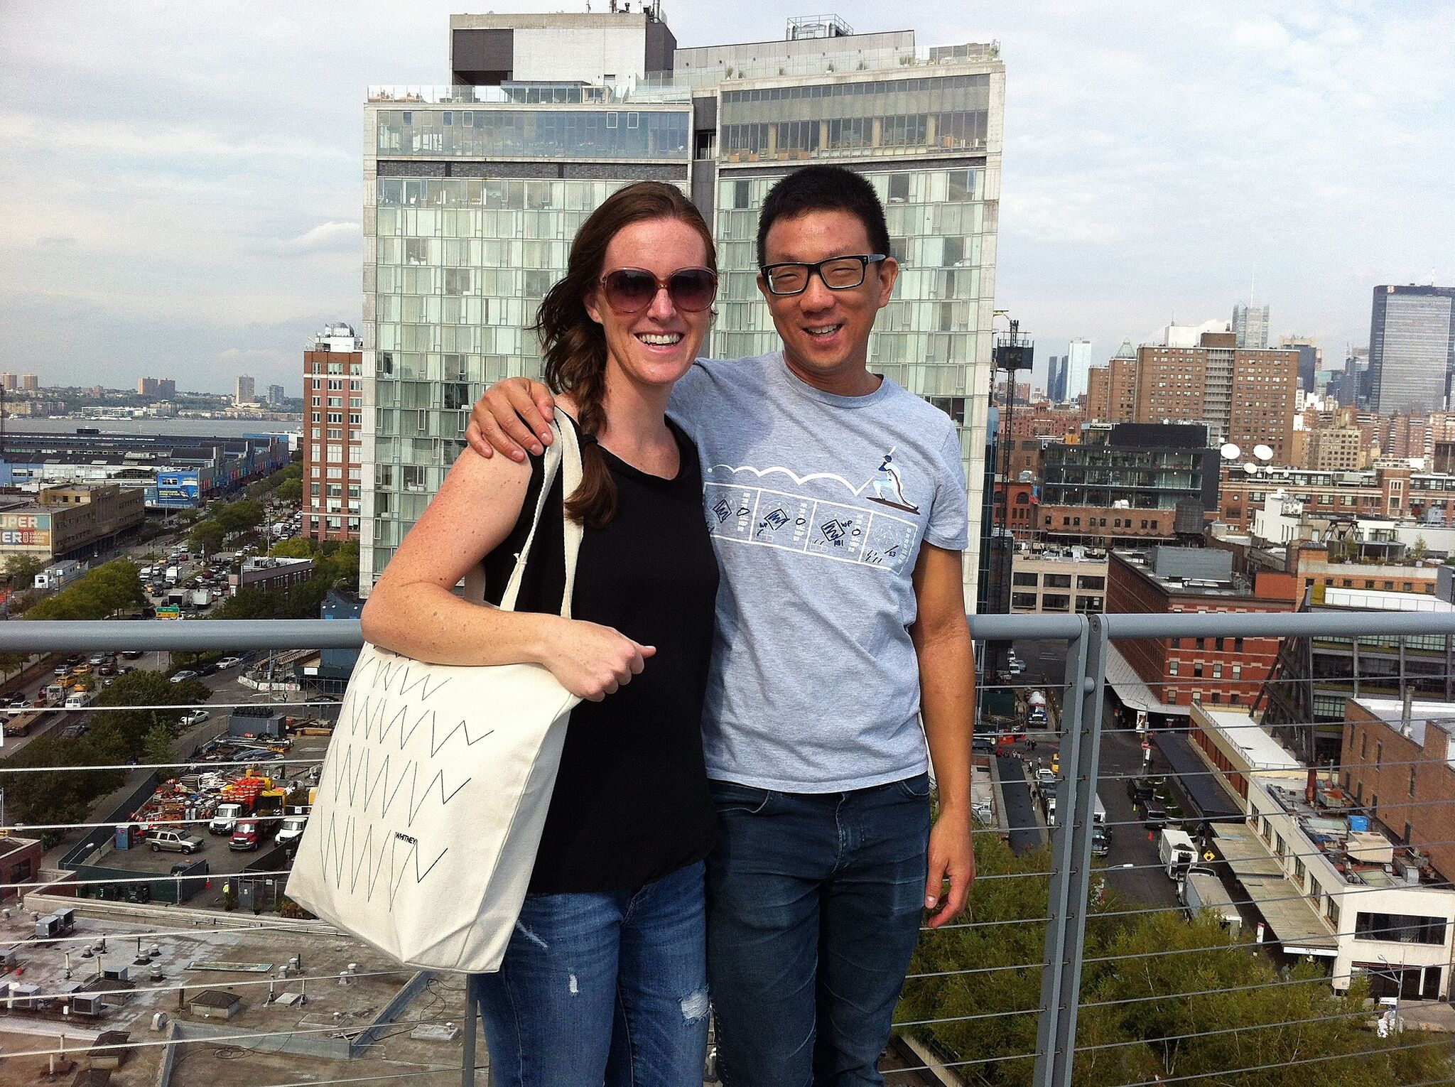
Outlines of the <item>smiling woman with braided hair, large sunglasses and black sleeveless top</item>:
{"type": "Polygon", "coordinates": [[[572,713],[531,893],[498,973],[473,979],[496,1083],[701,1083],[707,1043],[703,859],[713,812],[700,716],[717,563],[701,473],[666,419],[716,295],[711,234],[643,182],[581,227],[541,303],[546,381],[582,435],[572,616],[562,480],[517,611],[453,586],[485,562],[499,601],[530,531],[540,461],[460,454],[364,608],[375,645],[436,664],[534,662],[588,701],[572,713]]]}

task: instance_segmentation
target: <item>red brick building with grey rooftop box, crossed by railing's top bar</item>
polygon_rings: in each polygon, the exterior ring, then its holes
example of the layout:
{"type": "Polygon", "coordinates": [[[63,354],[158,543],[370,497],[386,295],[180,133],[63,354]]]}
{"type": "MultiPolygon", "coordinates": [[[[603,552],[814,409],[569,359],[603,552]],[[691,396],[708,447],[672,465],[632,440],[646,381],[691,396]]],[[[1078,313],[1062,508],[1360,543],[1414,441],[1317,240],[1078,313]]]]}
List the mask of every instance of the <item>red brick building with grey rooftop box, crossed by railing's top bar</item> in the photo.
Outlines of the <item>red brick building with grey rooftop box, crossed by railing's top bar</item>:
{"type": "MultiPolygon", "coordinates": [[[[1203,547],[1113,552],[1106,610],[1144,614],[1292,611],[1232,576],[1232,556],[1203,547]]],[[[1251,706],[1277,658],[1276,637],[1163,637],[1117,640],[1115,650],[1167,707],[1251,706]]],[[[1171,713],[1177,710],[1168,709],[1171,713]]]]}

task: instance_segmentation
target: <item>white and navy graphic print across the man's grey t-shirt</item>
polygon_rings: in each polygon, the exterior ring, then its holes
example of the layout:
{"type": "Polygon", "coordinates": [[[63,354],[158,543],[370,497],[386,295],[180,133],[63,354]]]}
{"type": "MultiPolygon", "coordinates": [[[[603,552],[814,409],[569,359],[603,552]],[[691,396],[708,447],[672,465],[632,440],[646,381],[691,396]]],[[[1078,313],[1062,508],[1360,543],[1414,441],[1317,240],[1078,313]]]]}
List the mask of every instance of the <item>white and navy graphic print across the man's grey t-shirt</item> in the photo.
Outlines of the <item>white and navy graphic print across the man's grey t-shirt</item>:
{"type": "MultiPolygon", "coordinates": [[[[703,501],[707,527],[720,540],[778,547],[835,562],[879,566],[899,573],[914,554],[920,528],[906,517],[872,509],[853,501],[834,501],[813,495],[742,483],[719,483],[719,471],[751,474],[758,480],[786,476],[799,487],[809,483],[837,483],[847,499],[863,499],[880,506],[920,515],[920,506],[905,496],[904,480],[893,463],[893,448],[879,463],[879,470],[854,486],[831,471],[800,476],[783,466],[714,464],[709,470],[703,501]],[[873,489],[872,495],[864,495],[873,489]]],[[[832,489],[832,487],[831,487],[832,489]]]]}

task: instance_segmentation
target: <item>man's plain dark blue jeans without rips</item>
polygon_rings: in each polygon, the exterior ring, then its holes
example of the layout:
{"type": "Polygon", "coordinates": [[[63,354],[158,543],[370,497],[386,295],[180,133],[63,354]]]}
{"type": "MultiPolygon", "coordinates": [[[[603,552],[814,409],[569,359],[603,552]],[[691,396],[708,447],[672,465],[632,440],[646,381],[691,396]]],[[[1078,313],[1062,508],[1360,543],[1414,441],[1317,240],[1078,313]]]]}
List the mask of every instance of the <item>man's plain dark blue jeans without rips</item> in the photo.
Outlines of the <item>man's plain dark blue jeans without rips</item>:
{"type": "Polygon", "coordinates": [[[924,911],[928,777],[821,795],[711,787],[707,969],[723,1084],[882,1084],[924,911]]]}

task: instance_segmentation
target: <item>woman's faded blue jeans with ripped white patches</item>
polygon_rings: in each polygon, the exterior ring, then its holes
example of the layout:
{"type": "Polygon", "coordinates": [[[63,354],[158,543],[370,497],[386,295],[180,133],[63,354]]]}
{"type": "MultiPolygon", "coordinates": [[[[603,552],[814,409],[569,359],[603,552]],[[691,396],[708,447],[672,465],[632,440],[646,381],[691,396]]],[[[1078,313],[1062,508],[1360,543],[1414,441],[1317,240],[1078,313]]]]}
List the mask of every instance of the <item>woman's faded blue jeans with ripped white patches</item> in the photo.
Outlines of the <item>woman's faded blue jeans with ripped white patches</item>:
{"type": "Polygon", "coordinates": [[[703,864],[636,891],[528,895],[471,978],[498,1087],[701,1087],[703,864]]]}

